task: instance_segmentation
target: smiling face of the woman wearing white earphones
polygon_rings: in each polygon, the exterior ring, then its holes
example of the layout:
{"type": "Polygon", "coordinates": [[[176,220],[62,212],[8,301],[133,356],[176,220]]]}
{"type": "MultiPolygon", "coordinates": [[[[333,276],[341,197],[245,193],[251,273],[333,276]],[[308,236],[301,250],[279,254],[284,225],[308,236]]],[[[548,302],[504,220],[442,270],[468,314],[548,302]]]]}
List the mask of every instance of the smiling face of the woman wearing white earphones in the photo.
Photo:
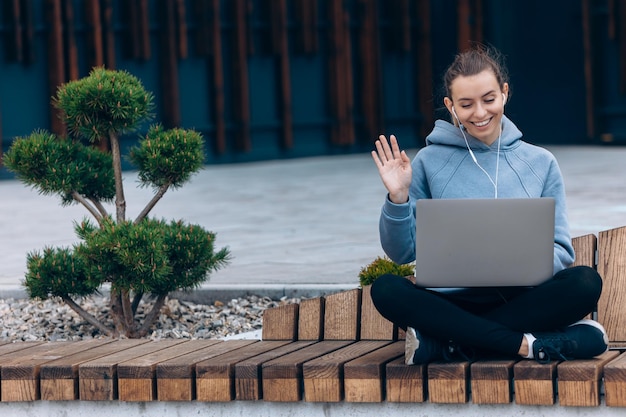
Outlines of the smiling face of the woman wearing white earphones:
{"type": "Polygon", "coordinates": [[[444,104],[470,135],[491,145],[500,135],[508,89],[507,83],[500,86],[493,71],[485,69],[476,75],[456,77],[450,84],[451,97],[445,97],[444,104]]]}

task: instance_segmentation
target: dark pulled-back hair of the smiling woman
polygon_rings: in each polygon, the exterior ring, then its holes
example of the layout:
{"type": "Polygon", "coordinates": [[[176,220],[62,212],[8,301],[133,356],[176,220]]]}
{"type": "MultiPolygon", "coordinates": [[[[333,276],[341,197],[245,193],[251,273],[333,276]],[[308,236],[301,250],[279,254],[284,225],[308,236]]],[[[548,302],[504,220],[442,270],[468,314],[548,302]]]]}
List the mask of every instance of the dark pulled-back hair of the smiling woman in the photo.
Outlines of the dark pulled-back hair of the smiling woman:
{"type": "Polygon", "coordinates": [[[509,82],[504,56],[495,48],[474,45],[471,49],[456,55],[454,61],[443,75],[445,95],[452,97],[450,86],[458,77],[476,75],[484,70],[491,70],[500,88],[509,82]]]}

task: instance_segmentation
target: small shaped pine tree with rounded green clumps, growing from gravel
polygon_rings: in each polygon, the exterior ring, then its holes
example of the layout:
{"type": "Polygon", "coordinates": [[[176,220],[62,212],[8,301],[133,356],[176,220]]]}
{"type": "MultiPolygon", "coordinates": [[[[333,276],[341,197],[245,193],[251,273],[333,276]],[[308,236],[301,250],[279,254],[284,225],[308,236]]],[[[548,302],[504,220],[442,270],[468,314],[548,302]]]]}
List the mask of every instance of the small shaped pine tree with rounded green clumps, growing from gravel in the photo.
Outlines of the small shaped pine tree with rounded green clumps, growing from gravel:
{"type": "Polygon", "coordinates": [[[53,98],[69,137],[37,130],[17,138],[4,158],[25,184],[59,195],[63,205],[82,204],[93,218],[75,225],[79,243],[73,247],[27,255],[24,285],[30,297],[58,297],[111,336],[145,336],[168,293],[196,288],[230,256],[228,248],[216,251],[215,234],[199,225],[148,217],[168,189],[181,187],[201,169],[203,139],[193,130],[152,126],[130,150],[140,186],[152,187],[155,194],[137,218],[126,218],[119,137],[149,119],[152,103],[152,94],[128,72],[94,68],[59,87],[53,98]],[[91,146],[102,142],[111,152],[91,146]],[[114,203],[115,217],[105,203],[114,203]],[[105,284],[114,327],[77,301],[105,284]],[[148,294],[155,301],[140,320],[137,308],[148,294]]]}

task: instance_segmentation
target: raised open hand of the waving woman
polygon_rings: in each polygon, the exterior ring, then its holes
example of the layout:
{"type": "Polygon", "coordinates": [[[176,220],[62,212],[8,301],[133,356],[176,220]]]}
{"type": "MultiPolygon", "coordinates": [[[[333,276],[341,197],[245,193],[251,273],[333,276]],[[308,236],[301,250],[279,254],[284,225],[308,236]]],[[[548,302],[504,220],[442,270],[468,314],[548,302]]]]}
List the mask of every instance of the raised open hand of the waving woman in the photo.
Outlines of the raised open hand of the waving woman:
{"type": "Polygon", "coordinates": [[[397,204],[406,203],[413,171],[411,160],[404,151],[400,151],[396,137],[391,135],[387,141],[384,135],[380,135],[376,141],[376,150],[372,151],[372,158],[389,192],[389,199],[397,204]]]}

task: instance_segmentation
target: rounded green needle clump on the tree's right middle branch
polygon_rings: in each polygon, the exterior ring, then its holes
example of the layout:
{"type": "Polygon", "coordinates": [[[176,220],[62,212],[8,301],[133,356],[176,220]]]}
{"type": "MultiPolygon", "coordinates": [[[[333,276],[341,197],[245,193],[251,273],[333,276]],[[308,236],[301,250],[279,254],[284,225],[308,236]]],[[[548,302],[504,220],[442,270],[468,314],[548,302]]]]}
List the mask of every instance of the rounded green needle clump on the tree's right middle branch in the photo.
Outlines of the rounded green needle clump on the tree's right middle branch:
{"type": "Polygon", "coordinates": [[[204,141],[193,130],[153,126],[129,154],[143,185],[180,187],[204,162],[204,141]]]}

